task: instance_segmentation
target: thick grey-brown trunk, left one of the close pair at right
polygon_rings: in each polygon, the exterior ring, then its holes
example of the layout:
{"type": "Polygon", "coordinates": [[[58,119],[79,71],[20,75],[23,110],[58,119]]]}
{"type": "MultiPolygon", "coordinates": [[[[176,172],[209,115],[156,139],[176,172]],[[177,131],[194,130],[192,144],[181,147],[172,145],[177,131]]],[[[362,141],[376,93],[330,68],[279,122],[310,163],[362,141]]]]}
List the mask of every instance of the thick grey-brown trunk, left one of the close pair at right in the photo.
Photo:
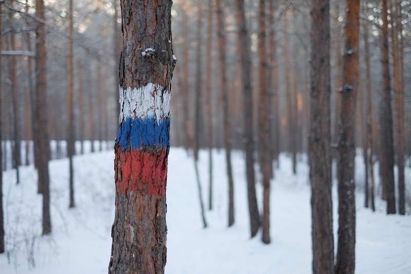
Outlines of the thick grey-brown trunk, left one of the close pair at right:
{"type": "Polygon", "coordinates": [[[330,165],[330,14],[328,0],[311,0],[311,91],[309,163],[312,210],[312,271],[333,273],[330,165]]]}

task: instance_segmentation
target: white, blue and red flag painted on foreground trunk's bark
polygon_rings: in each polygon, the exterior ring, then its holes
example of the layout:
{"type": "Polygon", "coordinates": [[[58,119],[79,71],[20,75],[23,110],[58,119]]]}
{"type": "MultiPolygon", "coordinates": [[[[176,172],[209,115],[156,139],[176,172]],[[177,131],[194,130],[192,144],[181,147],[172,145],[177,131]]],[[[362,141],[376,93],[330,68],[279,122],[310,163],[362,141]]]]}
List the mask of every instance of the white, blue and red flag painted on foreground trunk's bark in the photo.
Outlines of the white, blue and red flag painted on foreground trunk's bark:
{"type": "Polygon", "coordinates": [[[120,89],[116,191],[164,195],[170,150],[171,91],[148,83],[120,89]]]}

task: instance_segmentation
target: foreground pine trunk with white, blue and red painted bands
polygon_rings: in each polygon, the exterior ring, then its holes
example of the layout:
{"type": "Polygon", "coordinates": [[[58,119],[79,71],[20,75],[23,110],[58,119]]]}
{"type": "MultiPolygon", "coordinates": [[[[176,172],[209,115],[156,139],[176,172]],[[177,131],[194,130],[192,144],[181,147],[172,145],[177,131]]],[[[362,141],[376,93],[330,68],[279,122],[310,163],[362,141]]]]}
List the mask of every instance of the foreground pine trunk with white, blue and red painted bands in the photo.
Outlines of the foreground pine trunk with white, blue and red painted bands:
{"type": "Polygon", "coordinates": [[[175,64],[171,7],[169,0],[121,1],[120,97],[127,99],[133,89],[137,89],[138,95],[138,90],[155,85],[151,95],[162,103],[159,111],[164,113],[155,118],[125,118],[131,113],[126,113],[126,101],[121,105],[115,145],[116,214],[111,230],[109,273],[164,273],[165,189],[170,148],[167,108],[175,64]]]}

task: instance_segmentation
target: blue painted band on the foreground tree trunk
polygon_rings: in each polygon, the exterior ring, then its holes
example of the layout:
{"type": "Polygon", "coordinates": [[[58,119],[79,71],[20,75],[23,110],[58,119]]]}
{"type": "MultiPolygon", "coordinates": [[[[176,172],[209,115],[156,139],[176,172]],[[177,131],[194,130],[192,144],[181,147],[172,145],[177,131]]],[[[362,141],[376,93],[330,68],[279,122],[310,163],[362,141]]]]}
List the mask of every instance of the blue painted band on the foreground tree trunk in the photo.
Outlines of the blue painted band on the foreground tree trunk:
{"type": "Polygon", "coordinates": [[[169,151],[170,118],[157,121],[154,116],[137,119],[127,117],[119,126],[116,142],[123,151],[153,146],[164,147],[169,151]]]}

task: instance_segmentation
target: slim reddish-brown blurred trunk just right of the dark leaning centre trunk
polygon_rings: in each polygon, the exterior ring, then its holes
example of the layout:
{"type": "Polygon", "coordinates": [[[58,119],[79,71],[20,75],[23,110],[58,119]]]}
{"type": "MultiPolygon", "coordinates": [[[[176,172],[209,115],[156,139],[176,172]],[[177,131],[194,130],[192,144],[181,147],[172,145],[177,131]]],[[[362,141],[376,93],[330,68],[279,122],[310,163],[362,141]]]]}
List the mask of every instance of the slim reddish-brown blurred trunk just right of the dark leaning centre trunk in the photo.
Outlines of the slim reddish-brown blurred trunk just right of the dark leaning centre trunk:
{"type": "Polygon", "coordinates": [[[258,75],[259,75],[259,108],[260,108],[260,157],[261,157],[261,173],[263,174],[263,228],[262,240],[265,244],[270,243],[270,166],[271,158],[269,153],[270,141],[270,120],[268,117],[268,104],[270,97],[267,86],[267,47],[266,47],[266,16],[265,16],[265,1],[259,0],[258,4],[258,75]]]}

